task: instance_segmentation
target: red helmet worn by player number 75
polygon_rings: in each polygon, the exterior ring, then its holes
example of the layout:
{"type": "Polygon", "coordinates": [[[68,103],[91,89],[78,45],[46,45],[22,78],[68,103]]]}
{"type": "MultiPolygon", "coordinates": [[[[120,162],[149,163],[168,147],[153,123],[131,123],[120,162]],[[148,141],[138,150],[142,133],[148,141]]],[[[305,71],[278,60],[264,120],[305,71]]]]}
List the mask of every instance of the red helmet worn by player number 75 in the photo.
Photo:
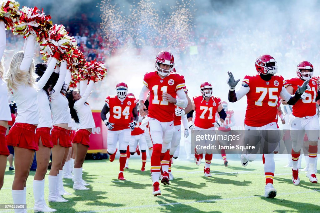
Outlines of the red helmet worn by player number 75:
{"type": "Polygon", "coordinates": [[[276,74],[278,72],[277,62],[270,55],[261,55],[256,60],[256,70],[259,74],[276,74]]]}

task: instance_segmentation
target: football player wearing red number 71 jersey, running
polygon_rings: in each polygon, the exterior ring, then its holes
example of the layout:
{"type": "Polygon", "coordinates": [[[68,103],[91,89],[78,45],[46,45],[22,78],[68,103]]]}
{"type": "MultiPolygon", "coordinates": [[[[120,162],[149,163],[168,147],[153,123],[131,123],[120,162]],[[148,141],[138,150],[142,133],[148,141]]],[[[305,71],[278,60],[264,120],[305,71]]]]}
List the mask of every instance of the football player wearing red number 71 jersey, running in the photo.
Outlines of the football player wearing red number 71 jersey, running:
{"type": "MultiPolygon", "coordinates": [[[[215,127],[219,128],[226,119],[226,112],[223,110],[221,99],[219,97],[212,96],[212,85],[209,82],[203,82],[200,85],[200,91],[202,95],[193,97],[193,108],[192,111],[188,113],[189,126],[192,124],[192,114],[196,111],[195,127],[196,130],[214,130],[215,127]],[[220,120],[216,122],[215,114],[216,112],[220,115],[220,120]]],[[[214,144],[214,141],[204,140],[204,144],[208,146],[214,144]]],[[[195,148],[195,162],[197,165],[201,164],[200,154],[203,153],[203,149],[195,148]]],[[[212,149],[205,150],[205,166],[204,166],[204,176],[211,177],[210,165],[212,160],[212,149]]]]}

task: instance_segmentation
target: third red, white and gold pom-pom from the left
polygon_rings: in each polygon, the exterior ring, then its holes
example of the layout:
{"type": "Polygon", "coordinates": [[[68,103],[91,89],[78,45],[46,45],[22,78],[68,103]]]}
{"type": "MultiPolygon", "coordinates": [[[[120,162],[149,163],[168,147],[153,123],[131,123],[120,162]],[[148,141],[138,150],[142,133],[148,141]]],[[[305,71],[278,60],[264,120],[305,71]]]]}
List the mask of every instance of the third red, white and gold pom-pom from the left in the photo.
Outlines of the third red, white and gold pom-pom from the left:
{"type": "Polygon", "coordinates": [[[77,49],[76,40],[68,35],[63,25],[53,25],[48,32],[48,39],[40,42],[42,59],[47,61],[55,52],[61,53],[62,60],[69,60],[72,52],[77,49]]]}

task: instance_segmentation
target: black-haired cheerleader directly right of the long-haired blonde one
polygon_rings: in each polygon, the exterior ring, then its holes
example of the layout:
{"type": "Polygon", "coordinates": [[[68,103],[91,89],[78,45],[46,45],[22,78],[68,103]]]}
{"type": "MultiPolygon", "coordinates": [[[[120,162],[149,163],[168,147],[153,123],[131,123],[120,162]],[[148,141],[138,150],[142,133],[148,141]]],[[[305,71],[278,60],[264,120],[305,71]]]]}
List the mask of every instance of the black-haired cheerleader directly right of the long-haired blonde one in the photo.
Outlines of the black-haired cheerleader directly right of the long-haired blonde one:
{"type": "MultiPolygon", "coordinates": [[[[59,58],[60,54],[57,53],[56,57],[59,58]]],[[[36,74],[39,80],[43,78],[44,73],[52,74],[54,67],[57,64],[56,58],[50,58],[48,66],[40,63],[36,65],[36,74]]],[[[36,128],[36,143],[39,150],[36,151],[37,168],[33,180],[33,195],[35,198],[34,211],[35,212],[55,212],[55,209],[49,208],[44,200],[44,176],[47,173],[51,148],[53,143],[51,140],[50,130],[52,127],[50,99],[52,87],[50,82],[47,82],[43,89],[38,92],[38,105],[39,105],[39,124],[36,128]]]]}

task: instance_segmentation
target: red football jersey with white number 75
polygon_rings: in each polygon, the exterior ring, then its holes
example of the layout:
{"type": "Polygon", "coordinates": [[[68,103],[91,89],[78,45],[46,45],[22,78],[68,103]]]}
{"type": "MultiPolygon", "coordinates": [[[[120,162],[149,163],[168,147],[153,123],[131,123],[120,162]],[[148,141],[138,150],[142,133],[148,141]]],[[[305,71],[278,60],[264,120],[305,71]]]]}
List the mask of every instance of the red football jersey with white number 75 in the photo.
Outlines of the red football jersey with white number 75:
{"type": "Polygon", "coordinates": [[[281,75],[274,75],[268,81],[263,80],[259,74],[244,76],[242,86],[250,87],[247,93],[245,125],[260,127],[275,122],[283,85],[284,78],[281,75]]]}

